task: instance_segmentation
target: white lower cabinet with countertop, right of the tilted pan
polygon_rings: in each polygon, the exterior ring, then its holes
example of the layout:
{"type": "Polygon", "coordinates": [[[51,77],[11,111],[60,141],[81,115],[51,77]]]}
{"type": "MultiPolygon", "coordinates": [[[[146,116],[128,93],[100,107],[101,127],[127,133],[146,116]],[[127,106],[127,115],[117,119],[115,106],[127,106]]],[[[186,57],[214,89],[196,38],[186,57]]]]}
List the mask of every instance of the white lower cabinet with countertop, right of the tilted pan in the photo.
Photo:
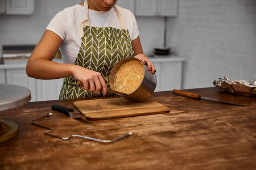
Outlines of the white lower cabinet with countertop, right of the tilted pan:
{"type": "Polygon", "coordinates": [[[157,84],[155,91],[170,91],[182,88],[183,57],[149,57],[156,69],[157,84]]]}

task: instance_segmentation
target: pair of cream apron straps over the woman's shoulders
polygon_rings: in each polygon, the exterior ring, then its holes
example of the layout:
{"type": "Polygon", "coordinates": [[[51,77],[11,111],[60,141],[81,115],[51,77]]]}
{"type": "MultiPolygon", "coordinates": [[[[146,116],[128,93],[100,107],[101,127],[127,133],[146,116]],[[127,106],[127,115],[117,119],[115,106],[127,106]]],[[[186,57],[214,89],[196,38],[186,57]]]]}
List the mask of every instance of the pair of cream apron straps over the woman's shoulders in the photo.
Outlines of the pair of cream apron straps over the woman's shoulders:
{"type": "MultiPolygon", "coordinates": [[[[116,6],[114,6],[114,9],[117,12],[117,17],[118,17],[121,28],[126,29],[125,22],[123,22],[123,18],[122,18],[121,13],[119,12],[119,10],[117,9],[116,6]]],[[[84,10],[85,10],[85,20],[80,24],[80,27],[79,27],[79,37],[80,37],[80,39],[84,36],[84,30],[83,30],[84,26],[89,26],[90,25],[89,9],[88,9],[88,3],[87,3],[86,0],[84,1],[84,10]]]]}

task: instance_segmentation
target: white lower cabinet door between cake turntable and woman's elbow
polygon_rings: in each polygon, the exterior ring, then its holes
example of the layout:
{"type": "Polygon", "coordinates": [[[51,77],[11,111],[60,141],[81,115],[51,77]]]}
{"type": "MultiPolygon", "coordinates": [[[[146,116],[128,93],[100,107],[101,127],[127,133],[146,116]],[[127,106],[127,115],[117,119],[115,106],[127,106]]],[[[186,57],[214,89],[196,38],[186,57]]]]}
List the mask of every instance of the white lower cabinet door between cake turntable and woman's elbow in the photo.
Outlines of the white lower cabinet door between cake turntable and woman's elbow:
{"type": "Polygon", "coordinates": [[[6,69],[6,83],[23,86],[31,91],[31,101],[36,101],[35,79],[26,74],[26,68],[6,69]]]}

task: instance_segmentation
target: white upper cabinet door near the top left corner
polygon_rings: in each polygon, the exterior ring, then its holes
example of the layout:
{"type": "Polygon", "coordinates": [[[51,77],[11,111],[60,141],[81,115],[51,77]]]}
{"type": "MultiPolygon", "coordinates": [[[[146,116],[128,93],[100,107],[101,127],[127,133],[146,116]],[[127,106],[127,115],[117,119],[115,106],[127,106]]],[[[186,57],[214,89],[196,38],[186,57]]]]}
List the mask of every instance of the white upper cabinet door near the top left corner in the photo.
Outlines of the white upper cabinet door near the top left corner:
{"type": "Polygon", "coordinates": [[[34,0],[6,0],[6,14],[29,15],[34,12],[34,0]]]}

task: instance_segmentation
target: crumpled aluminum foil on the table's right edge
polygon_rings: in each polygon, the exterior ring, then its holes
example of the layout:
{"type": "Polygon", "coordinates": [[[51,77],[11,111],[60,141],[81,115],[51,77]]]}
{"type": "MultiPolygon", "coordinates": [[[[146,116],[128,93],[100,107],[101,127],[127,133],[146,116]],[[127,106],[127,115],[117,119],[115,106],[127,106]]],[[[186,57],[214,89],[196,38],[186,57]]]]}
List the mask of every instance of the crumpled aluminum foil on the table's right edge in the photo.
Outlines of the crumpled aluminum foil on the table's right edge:
{"type": "Polygon", "coordinates": [[[220,90],[243,96],[256,96],[256,80],[229,80],[226,76],[213,81],[214,86],[220,90]]]}

